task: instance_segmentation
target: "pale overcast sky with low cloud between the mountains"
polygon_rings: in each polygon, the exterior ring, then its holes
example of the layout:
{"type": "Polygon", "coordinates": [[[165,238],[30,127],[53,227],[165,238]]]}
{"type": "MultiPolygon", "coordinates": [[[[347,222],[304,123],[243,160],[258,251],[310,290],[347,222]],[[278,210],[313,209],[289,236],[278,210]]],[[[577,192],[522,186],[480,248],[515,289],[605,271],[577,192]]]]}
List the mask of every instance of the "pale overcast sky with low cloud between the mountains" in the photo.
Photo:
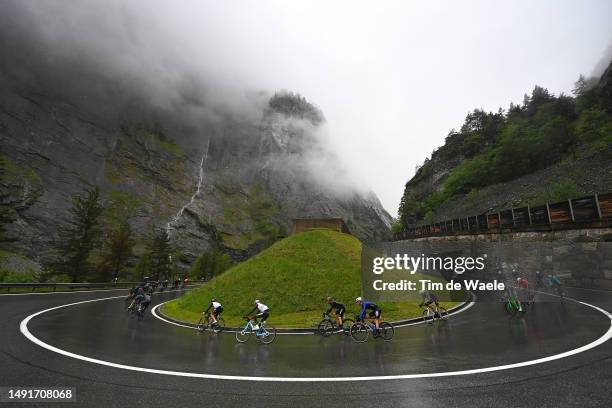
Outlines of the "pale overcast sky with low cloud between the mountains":
{"type": "Polygon", "coordinates": [[[612,43],[609,0],[44,4],[77,40],[101,16],[115,20],[121,41],[160,70],[186,65],[248,91],[301,93],[323,110],[355,182],[394,216],[415,166],[468,111],[507,108],[535,84],[569,93],[612,43]]]}

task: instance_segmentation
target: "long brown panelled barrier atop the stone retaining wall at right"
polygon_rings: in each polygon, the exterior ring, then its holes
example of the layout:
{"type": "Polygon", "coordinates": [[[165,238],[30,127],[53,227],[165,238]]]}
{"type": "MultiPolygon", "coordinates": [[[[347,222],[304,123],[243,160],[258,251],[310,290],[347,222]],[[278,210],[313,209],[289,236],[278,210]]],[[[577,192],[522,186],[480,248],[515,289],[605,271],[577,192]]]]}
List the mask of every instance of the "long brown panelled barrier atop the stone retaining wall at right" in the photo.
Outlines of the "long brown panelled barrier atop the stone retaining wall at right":
{"type": "Polygon", "coordinates": [[[405,227],[393,240],[440,235],[551,231],[612,226],[612,193],[594,194],[557,203],[510,208],[433,224],[405,227]]]}

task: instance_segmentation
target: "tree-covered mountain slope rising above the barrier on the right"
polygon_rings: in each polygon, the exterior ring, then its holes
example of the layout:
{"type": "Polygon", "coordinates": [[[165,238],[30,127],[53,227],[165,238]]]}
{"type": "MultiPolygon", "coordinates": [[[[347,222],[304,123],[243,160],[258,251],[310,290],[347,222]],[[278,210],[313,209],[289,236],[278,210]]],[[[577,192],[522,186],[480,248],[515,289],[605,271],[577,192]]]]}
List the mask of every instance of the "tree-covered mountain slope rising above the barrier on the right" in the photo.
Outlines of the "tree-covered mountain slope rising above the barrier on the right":
{"type": "Polygon", "coordinates": [[[406,183],[403,225],[612,190],[612,65],[575,97],[536,86],[507,112],[470,112],[406,183]]]}

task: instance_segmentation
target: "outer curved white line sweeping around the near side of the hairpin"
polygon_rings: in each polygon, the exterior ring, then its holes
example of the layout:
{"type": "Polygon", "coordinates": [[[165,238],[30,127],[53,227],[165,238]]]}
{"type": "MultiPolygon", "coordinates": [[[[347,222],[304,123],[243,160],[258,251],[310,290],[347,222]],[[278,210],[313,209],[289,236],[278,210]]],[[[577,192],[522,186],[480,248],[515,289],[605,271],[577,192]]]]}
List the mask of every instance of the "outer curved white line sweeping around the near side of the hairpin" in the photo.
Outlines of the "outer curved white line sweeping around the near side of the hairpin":
{"type": "Polygon", "coordinates": [[[172,375],[172,376],[177,376],[177,377],[191,377],[191,378],[205,378],[205,379],[212,379],[212,380],[233,380],[233,381],[262,381],[262,382],[263,381],[265,382],[352,382],[352,381],[381,381],[381,380],[389,381],[389,380],[407,380],[407,379],[415,379],[415,378],[451,377],[451,376],[461,376],[461,375],[470,375],[470,374],[482,374],[482,373],[489,373],[493,371],[501,371],[501,370],[519,368],[519,367],[527,367],[527,366],[532,366],[536,364],[546,363],[549,361],[559,360],[565,357],[570,357],[570,356],[585,352],[587,350],[590,350],[592,348],[595,348],[605,343],[606,341],[610,340],[610,338],[612,338],[612,314],[610,314],[609,312],[607,312],[606,310],[600,307],[591,305],[589,303],[581,302],[575,299],[566,298],[566,300],[574,301],[576,303],[590,307],[604,314],[608,319],[610,319],[610,327],[608,327],[608,331],[606,331],[606,333],[604,333],[603,336],[599,337],[598,339],[596,339],[595,341],[589,344],[586,344],[582,347],[578,347],[576,349],[569,350],[563,353],[555,354],[555,355],[548,356],[548,357],[538,358],[535,360],[514,363],[514,364],[476,368],[476,369],[471,369],[471,370],[446,371],[446,372],[423,373],[423,374],[363,376],[363,377],[254,377],[254,376],[243,376],[243,375],[219,375],[219,374],[192,373],[192,372],[184,372],[184,371],[159,370],[159,369],[154,369],[154,368],[136,367],[136,366],[126,365],[126,364],[112,363],[110,361],[99,360],[96,358],[86,357],[80,354],[72,353],[70,351],[62,350],[60,348],[57,348],[55,346],[52,346],[50,344],[43,342],[42,340],[38,339],[28,330],[28,323],[30,322],[30,320],[32,320],[36,316],[40,316],[52,310],[61,309],[64,307],[75,306],[75,305],[79,305],[83,303],[99,302],[102,300],[109,300],[109,299],[117,299],[120,297],[123,297],[123,296],[114,296],[114,297],[109,297],[109,298],[86,300],[82,302],[69,303],[66,305],[55,306],[49,309],[41,310],[23,319],[21,321],[21,324],[19,325],[19,328],[21,330],[21,333],[28,340],[39,345],[40,347],[43,347],[47,350],[53,351],[54,353],[58,353],[58,354],[61,354],[67,357],[72,357],[78,360],[87,361],[87,362],[94,363],[94,364],[100,364],[100,365],[104,365],[107,367],[120,368],[123,370],[138,371],[138,372],[150,373],[150,374],[172,375]]]}

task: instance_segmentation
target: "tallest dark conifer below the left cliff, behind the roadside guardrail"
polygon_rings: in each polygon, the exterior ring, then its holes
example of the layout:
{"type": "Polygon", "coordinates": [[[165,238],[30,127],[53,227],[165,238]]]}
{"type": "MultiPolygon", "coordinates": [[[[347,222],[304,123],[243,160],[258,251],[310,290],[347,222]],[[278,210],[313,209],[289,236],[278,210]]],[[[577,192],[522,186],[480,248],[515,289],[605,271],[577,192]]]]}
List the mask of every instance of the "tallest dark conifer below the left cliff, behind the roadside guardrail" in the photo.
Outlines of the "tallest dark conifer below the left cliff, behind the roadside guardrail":
{"type": "Polygon", "coordinates": [[[87,276],[91,267],[89,254],[100,241],[103,210],[98,187],[73,198],[71,219],[60,230],[60,239],[56,243],[59,256],[53,265],[55,273],[65,273],[73,282],[87,276]]]}

